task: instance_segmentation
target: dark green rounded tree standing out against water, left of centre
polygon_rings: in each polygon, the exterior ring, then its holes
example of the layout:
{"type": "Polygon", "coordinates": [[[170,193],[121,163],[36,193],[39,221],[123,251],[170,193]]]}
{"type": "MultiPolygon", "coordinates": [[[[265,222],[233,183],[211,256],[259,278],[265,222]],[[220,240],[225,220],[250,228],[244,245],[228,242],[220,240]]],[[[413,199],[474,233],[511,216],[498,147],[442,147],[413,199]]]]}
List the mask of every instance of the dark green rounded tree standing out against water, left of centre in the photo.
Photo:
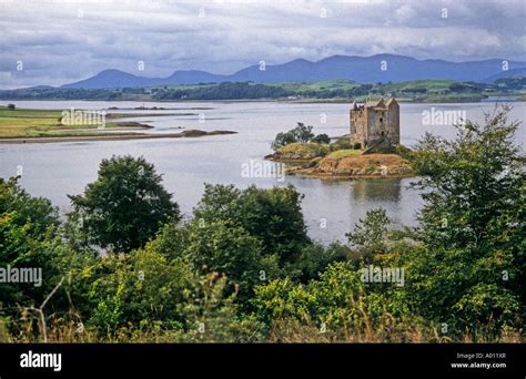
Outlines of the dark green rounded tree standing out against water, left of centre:
{"type": "Polygon", "coordinates": [[[168,221],[179,221],[172,195],[162,177],[142,156],[103,160],[99,177],[83,195],[69,196],[77,221],[89,239],[112,252],[130,252],[144,245],[168,221]]]}

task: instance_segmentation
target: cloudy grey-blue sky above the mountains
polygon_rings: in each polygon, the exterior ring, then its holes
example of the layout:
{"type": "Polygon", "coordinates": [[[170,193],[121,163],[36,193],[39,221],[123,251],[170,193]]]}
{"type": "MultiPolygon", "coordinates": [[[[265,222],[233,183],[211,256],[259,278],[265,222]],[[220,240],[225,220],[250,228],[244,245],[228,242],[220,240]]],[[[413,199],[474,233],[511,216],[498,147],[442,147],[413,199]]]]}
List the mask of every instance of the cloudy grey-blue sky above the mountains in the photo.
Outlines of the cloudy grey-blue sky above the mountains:
{"type": "Polygon", "coordinates": [[[333,54],[526,61],[525,19],[526,0],[0,0],[0,89],[333,54]]]}

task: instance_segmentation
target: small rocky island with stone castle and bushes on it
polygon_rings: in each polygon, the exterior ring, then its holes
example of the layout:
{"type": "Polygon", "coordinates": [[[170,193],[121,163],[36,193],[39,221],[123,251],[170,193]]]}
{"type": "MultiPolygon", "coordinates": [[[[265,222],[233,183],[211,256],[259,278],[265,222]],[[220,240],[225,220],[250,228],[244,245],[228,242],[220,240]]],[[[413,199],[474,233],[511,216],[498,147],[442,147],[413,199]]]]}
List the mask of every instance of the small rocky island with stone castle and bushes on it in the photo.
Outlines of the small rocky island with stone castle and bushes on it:
{"type": "Polygon", "coordinates": [[[266,158],[287,164],[286,174],[317,177],[413,176],[408,150],[399,144],[399,105],[394,98],[352,104],[350,134],[331,142],[297,123],[279,133],[266,158]]]}

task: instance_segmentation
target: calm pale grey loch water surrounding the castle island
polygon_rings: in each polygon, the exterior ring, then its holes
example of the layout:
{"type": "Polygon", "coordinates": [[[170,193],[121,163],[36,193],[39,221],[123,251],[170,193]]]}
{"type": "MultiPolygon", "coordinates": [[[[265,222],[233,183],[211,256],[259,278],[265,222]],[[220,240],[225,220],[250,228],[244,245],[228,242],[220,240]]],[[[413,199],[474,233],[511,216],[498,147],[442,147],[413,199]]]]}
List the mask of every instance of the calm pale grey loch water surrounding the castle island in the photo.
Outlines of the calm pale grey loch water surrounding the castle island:
{"type": "MultiPolygon", "coordinates": [[[[7,102],[6,102],[7,103],[7,102]]],[[[94,109],[130,107],[135,102],[80,101],[18,101],[19,107],[33,109],[94,109]]],[[[32,195],[50,198],[65,212],[67,194],[79,194],[97,178],[100,161],[113,154],[143,155],[163,174],[164,186],[185,215],[198,204],[204,183],[234,184],[261,187],[293,184],[304,194],[303,211],[312,237],[323,243],[345,240],[345,233],[364,217],[367,209],[384,207],[398,225],[414,225],[421,198],[408,188],[412,180],[318,180],[287,176],[275,178],[243,177],[243,164],[261,161],[270,154],[270,143],[279,132],[292,129],[296,122],[314,125],[315,133],[338,136],[348,133],[348,104],[294,104],[279,102],[210,102],[210,103],[144,103],[162,106],[154,113],[192,113],[190,115],[143,116],[136,121],[151,124],[151,133],[173,133],[179,126],[205,131],[231,130],[232,135],[201,139],[162,139],[135,141],[95,141],[77,143],[0,145],[0,176],[17,174],[23,167],[20,184],[32,195]],[[326,227],[321,227],[326,225],[326,227]]],[[[526,103],[514,103],[510,117],[526,120],[526,103]]],[[[451,125],[423,125],[424,111],[465,111],[466,116],[484,121],[483,112],[490,112],[494,103],[469,104],[402,104],[401,140],[411,146],[425,133],[454,136],[451,125]]],[[[123,111],[115,111],[123,112],[123,111]]],[[[145,111],[129,111],[145,113],[145,111]]],[[[135,120],[134,120],[135,121],[135,120]]],[[[525,127],[517,134],[524,146],[525,127]]]]}

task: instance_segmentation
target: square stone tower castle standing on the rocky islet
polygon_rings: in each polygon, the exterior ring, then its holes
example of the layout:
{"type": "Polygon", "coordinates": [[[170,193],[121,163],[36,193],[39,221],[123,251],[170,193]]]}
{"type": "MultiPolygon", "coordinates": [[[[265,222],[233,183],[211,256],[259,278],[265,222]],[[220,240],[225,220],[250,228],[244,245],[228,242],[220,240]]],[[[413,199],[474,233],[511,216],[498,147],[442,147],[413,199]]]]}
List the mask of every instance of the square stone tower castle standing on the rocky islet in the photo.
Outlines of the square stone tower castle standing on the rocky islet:
{"type": "Polygon", "coordinates": [[[350,111],[351,142],[362,148],[376,142],[399,144],[399,105],[394,98],[367,101],[363,105],[353,102],[350,111]]]}

